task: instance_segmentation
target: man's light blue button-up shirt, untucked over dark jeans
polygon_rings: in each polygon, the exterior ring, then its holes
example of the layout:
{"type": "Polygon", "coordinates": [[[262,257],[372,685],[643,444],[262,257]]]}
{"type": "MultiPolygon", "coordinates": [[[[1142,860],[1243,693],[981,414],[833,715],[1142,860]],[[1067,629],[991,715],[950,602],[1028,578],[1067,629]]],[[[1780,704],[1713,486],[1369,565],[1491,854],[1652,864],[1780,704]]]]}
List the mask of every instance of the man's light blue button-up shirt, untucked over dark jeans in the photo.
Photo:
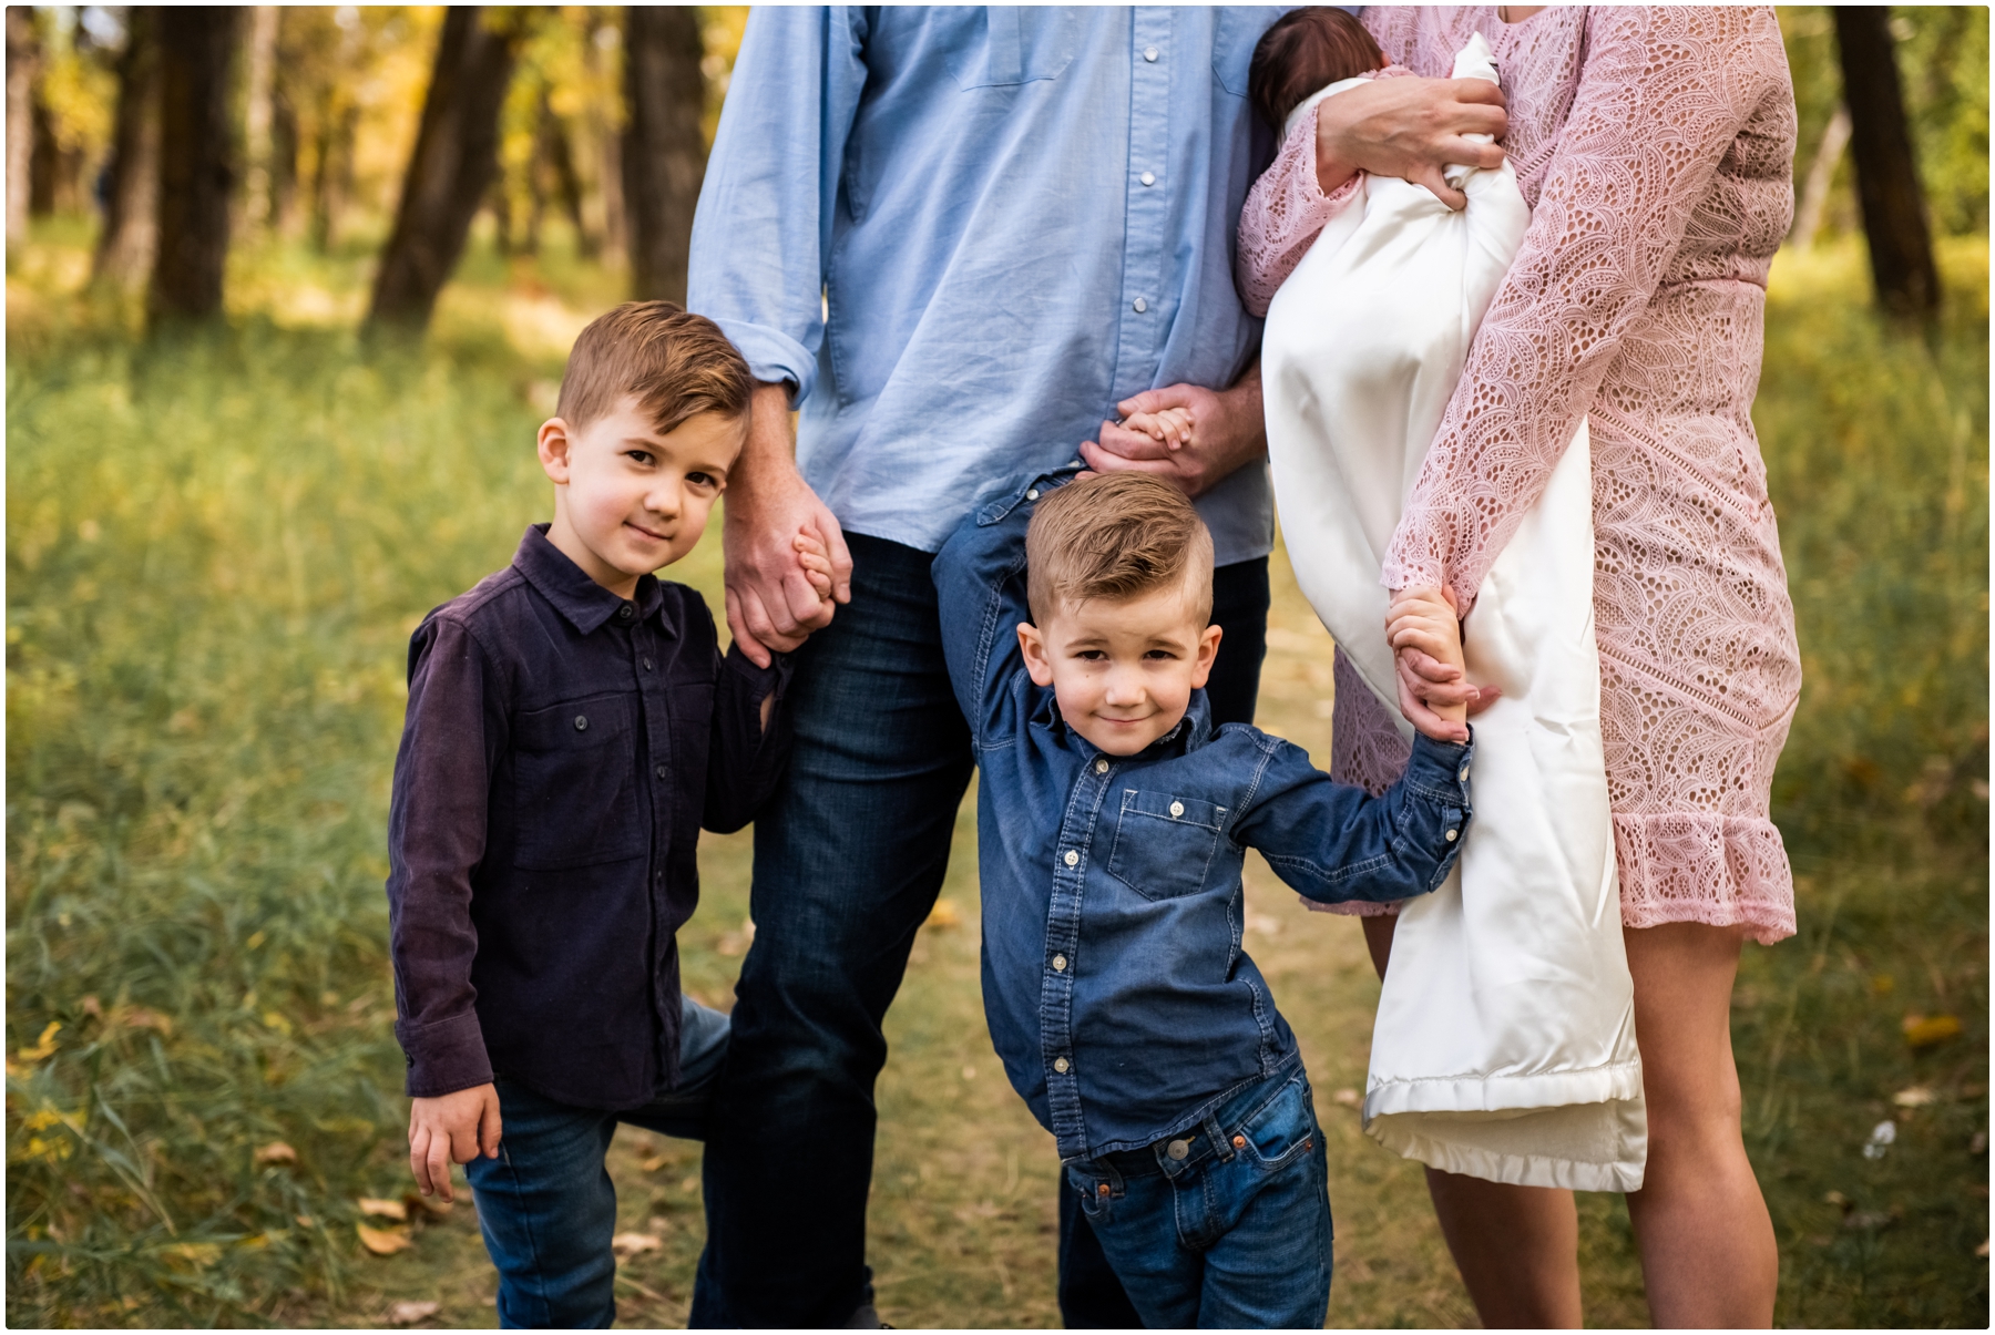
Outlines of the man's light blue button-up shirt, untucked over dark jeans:
{"type": "MultiPolygon", "coordinates": [[[[692,225],[688,305],[790,381],[838,521],[936,551],[1115,403],[1223,389],[1247,64],[1281,8],[756,8],[692,225]]],[[[1273,547],[1265,461],[1199,513],[1273,547]]]]}

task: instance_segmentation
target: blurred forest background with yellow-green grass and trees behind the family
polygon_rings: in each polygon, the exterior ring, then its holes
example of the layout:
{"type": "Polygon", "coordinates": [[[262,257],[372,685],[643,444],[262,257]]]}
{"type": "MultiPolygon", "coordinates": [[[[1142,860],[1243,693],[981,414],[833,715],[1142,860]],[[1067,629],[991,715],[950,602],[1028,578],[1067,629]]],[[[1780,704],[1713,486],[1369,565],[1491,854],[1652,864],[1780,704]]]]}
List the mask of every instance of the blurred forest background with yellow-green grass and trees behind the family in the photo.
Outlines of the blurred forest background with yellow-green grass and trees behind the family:
{"type": "MultiPolygon", "coordinates": [[[[682,295],[740,8],[6,10],[10,1325],[489,1325],[409,1195],[383,822],[421,615],[547,515],[575,333],[682,295]]],[[[1799,938],[1748,948],[1748,1147],[1790,1325],[1987,1325],[1985,8],[1782,10],[1797,218],[1756,405],[1805,684],[1799,938]]],[[[1261,722],[1329,752],[1275,557],[1261,722]]],[[[674,577],[718,607],[718,543],[674,577]]],[[[974,822],[888,1020],[896,1325],[1057,1325],[1051,1141],[978,998],[974,822]]],[[[748,840],[688,988],[728,1006],[748,840]]],[[[1333,1325],[1472,1325],[1357,1125],[1353,924],[1249,870],[1333,1145],[1333,1325]]],[[[684,1321],[698,1145],[620,1135],[618,1299],[684,1321]]],[[[1618,1197],[1588,1319],[1642,1325],[1618,1197]]]]}

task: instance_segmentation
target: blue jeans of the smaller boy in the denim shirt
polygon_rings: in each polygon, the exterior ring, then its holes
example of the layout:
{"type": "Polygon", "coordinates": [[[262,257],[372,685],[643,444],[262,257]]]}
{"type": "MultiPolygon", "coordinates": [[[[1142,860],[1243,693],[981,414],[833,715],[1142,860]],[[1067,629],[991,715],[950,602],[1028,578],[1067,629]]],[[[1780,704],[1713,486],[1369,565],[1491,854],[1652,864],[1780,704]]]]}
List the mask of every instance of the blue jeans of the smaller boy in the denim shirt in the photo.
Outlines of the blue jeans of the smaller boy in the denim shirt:
{"type": "Polygon", "coordinates": [[[1149,1329],[1323,1329],[1325,1177],[1301,1062],[1185,1135],[1067,1161],[1081,1213],[1149,1329]]]}

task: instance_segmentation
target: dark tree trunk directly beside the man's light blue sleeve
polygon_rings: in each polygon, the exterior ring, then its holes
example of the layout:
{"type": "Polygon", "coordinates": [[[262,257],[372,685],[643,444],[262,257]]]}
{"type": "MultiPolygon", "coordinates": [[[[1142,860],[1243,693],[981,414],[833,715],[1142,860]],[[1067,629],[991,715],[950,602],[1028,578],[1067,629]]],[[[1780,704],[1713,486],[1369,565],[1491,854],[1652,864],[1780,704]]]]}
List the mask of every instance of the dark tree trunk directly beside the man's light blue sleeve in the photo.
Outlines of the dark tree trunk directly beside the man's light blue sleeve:
{"type": "Polygon", "coordinates": [[[622,188],[630,214],[630,293],[684,301],[692,210],[706,176],[700,20],[690,8],[624,10],[622,188]]]}

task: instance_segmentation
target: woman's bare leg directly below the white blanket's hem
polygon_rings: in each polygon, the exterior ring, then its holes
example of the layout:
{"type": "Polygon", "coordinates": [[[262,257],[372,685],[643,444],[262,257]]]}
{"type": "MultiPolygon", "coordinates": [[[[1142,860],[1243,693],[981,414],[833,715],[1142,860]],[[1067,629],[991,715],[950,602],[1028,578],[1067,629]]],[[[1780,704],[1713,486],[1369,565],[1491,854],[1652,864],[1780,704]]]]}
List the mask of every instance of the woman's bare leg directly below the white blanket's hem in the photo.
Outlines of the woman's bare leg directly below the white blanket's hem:
{"type": "MultiPolygon", "coordinates": [[[[1365,946],[1385,978],[1398,918],[1365,918],[1365,946]]],[[[1640,1032],[1640,1030],[1638,1030],[1640,1032]]],[[[1580,1325],[1580,1219],[1570,1191],[1426,1169],[1440,1235],[1482,1325],[1580,1325]]]]}

